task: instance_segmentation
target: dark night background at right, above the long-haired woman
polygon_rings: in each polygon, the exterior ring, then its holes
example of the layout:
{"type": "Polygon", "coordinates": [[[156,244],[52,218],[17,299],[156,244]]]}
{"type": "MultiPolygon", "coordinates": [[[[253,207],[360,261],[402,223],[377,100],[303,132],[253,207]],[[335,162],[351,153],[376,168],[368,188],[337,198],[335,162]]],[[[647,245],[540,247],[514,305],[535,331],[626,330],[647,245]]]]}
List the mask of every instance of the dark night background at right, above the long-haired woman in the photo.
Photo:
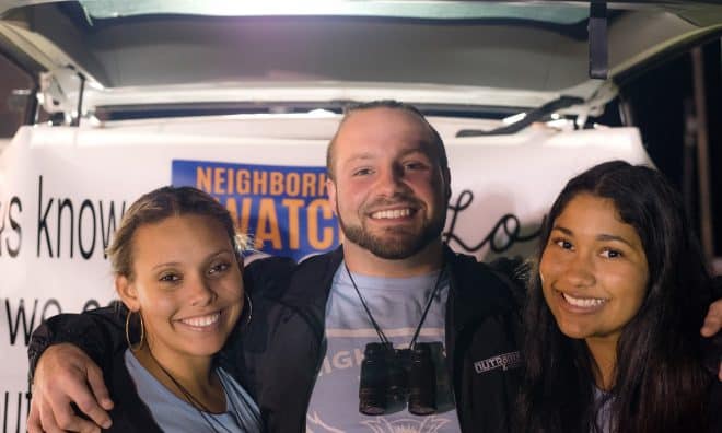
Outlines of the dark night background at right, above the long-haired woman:
{"type": "MultiPolygon", "coordinates": [[[[720,40],[703,46],[707,131],[711,173],[714,256],[722,256],[722,60],[720,40]]],[[[682,190],[688,212],[699,230],[699,194],[695,130],[686,128],[694,113],[692,60],[684,52],[624,84],[621,93],[631,106],[632,122],[639,127],[652,161],[682,190]],[[688,147],[685,147],[687,140],[688,147]],[[690,142],[691,141],[691,142],[690,142]],[[687,155],[686,155],[687,153],[687,155]],[[685,157],[692,169],[685,173],[685,157]],[[687,184],[685,184],[687,183],[687,184]]],[[[694,128],[694,126],[692,126],[694,128]]],[[[718,268],[718,272],[720,272],[718,268]]]]}

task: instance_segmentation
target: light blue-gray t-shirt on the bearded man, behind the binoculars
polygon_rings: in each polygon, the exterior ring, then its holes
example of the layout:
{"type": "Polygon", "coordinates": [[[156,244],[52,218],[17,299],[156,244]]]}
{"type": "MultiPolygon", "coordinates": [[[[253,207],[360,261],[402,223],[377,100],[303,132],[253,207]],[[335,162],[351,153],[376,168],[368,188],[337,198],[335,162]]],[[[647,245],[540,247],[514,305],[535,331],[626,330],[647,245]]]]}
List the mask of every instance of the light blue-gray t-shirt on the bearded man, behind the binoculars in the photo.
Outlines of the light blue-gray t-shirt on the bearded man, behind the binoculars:
{"type": "MultiPolygon", "coordinates": [[[[366,277],[353,273],[374,319],[395,348],[407,348],[439,272],[412,278],[366,277]]],[[[421,328],[419,342],[436,342],[438,412],[419,417],[408,409],[383,416],[359,412],[359,377],[366,343],[379,336],[341,264],[334,276],[326,305],[327,351],[306,414],[308,433],[456,433],[459,432],[451,382],[443,360],[444,316],[449,279],[440,290],[421,328]]]]}

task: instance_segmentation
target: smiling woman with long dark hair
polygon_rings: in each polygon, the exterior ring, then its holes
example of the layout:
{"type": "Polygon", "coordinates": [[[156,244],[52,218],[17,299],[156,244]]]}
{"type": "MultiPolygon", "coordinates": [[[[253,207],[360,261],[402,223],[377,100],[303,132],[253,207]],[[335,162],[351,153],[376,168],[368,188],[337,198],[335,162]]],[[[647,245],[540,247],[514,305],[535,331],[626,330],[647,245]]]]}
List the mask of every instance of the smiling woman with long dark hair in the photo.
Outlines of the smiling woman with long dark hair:
{"type": "Polygon", "coordinates": [[[664,176],[614,161],[574,177],[537,258],[520,431],[722,431],[699,337],[712,280],[664,176]]]}

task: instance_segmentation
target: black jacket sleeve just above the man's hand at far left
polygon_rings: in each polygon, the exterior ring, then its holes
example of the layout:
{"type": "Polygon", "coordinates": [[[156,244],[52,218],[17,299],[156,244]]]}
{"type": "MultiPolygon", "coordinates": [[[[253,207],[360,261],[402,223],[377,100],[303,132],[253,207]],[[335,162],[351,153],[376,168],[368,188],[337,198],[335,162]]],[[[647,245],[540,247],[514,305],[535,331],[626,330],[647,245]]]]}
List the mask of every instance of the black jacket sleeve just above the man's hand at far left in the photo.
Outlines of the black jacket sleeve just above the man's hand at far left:
{"type": "Polygon", "coordinates": [[[82,314],[59,314],[45,320],[33,331],[27,348],[31,381],[45,349],[61,342],[78,346],[97,365],[108,365],[113,355],[127,346],[126,314],[125,305],[115,301],[107,307],[82,314]]]}

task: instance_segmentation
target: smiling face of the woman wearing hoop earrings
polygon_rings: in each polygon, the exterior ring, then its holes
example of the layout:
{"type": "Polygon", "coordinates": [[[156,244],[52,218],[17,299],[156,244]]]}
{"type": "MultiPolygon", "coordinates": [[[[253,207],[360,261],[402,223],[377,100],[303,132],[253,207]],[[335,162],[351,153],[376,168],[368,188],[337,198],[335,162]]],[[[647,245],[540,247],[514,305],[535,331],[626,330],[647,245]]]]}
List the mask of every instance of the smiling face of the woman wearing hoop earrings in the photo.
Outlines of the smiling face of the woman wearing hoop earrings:
{"type": "Polygon", "coordinates": [[[131,248],[133,278],[117,277],[116,288],[140,311],[153,355],[170,365],[218,352],[243,308],[241,268],[223,226],[210,216],[171,216],[140,225],[131,248]]]}

